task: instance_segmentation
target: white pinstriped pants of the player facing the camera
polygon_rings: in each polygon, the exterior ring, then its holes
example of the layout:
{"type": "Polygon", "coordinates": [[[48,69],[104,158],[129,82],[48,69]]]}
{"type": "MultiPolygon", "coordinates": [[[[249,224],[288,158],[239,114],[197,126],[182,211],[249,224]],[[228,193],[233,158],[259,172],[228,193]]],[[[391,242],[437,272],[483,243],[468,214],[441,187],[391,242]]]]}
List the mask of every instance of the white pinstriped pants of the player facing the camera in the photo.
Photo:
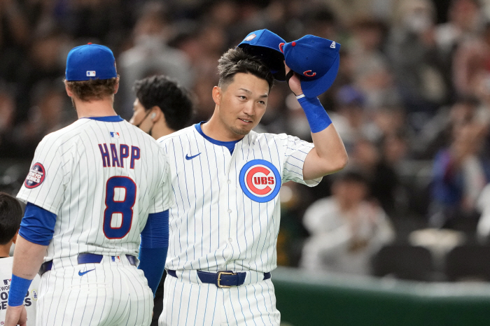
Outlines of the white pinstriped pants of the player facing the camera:
{"type": "Polygon", "coordinates": [[[217,288],[167,276],[164,289],[159,326],[279,326],[281,321],[270,279],[217,288]]]}

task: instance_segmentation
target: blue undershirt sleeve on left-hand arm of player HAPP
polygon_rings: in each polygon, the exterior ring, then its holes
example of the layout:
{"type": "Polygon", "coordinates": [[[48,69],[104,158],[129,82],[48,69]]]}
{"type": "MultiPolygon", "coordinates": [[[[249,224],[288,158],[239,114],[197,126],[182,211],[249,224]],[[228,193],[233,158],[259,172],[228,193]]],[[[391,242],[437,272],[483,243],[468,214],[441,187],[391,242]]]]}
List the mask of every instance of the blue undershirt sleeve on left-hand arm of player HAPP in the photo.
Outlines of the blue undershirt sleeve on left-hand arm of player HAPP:
{"type": "Polygon", "coordinates": [[[48,246],[55,233],[56,214],[27,203],[19,234],[29,242],[48,246]]]}

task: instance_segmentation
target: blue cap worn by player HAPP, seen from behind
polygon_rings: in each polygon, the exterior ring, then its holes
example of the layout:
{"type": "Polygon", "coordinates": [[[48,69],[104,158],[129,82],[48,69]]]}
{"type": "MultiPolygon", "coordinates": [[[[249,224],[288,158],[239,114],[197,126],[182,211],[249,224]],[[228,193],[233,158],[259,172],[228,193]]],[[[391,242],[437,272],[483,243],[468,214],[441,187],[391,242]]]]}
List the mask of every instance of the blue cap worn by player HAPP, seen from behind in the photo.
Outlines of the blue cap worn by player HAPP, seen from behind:
{"type": "Polygon", "coordinates": [[[65,78],[68,81],[111,79],[116,73],[116,59],[104,45],[88,43],[71,49],[66,57],[65,78]]]}

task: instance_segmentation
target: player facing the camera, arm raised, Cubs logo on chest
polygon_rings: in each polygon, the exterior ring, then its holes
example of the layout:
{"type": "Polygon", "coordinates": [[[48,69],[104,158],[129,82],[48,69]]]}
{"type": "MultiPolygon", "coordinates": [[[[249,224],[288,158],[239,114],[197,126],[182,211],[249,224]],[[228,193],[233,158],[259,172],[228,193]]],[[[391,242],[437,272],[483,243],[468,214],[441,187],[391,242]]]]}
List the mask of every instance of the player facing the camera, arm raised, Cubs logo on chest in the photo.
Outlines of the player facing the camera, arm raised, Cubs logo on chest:
{"type": "Polygon", "coordinates": [[[159,325],[279,326],[270,272],[276,268],[281,183],[314,186],[344,168],[347,155],[318,99],[304,97],[297,74],[288,73],[288,84],[307,115],[313,143],[252,131],[273,85],[262,61],[231,49],[218,71],[211,119],[158,140],[170,160],[175,194],[159,325]]]}

